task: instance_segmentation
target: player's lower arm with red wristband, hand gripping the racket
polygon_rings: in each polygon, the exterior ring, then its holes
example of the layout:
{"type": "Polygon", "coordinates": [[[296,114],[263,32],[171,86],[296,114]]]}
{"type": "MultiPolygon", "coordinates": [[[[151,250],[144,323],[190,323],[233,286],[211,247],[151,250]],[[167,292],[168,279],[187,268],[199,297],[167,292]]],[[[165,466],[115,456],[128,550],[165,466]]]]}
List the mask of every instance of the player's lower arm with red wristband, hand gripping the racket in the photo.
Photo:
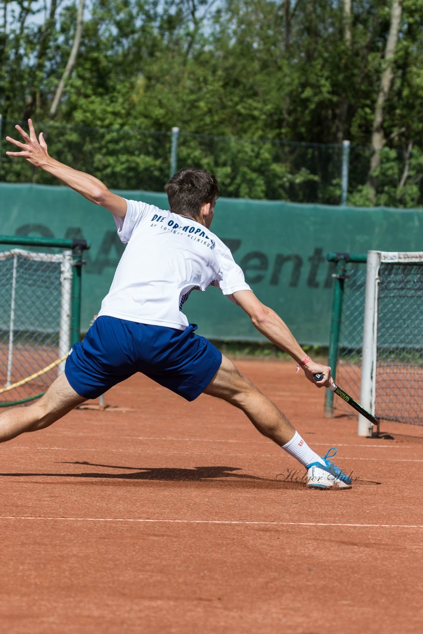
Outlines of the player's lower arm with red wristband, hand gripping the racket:
{"type": "MultiPolygon", "coordinates": [[[[269,341],[290,354],[297,363],[302,363],[308,357],[280,316],[268,306],[264,306],[252,290],[238,290],[233,293],[232,297],[235,303],[249,315],[257,330],[269,341]]],[[[315,363],[310,359],[301,367],[306,377],[317,387],[329,387],[332,384],[328,366],[320,365],[320,363],[315,363]],[[325,377],[316,383],[313,374],[318,372],[321,372],[325,377]]]]}

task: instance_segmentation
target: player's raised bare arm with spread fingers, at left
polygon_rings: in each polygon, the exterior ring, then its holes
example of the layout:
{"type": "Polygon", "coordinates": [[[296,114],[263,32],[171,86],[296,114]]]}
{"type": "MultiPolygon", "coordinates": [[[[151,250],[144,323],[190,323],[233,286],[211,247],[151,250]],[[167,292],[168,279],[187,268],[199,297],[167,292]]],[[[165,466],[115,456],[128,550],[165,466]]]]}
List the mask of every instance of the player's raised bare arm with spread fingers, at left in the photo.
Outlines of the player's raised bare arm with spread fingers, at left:
{"type": "Polygon", "coordinates": [[[94,204],[105,207],[105,209],[111,211],[115,216],[125,217],[126,200],[124,200],[124,198],[109,191],[105,184],[101,183],[98,178],[94,178],[94,176],[86,174],[86,172],[79,172],[53,159],[49,156],[44,135],[40,133],[37,139],[31,119],[28,119],[28,126],[29,134],[27,134],[22,127],[15,126],[20,136],[22,136],[23,142],[6,136],[6,141],[10,141],[10,143],[20,148],[20,152],[6,152],[8,156],[26,159],[31,165],[35,165],[35,167],[39,167],[45,172],[53,174],[53,176],[56,176],[60,181],[67,184],[68,187],[72,188],[72,190],[77,191],[94,204]]]}

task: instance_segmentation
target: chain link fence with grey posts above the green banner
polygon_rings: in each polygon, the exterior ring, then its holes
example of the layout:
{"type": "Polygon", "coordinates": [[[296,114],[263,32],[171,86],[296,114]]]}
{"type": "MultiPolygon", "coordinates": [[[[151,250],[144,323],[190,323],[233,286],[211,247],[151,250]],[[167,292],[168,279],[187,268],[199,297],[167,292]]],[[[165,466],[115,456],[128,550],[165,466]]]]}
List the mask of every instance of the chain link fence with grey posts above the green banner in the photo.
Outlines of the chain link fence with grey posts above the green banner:
{"type": "MultiPolygon", "coordinates": [[[[16,138],[15,124],[0,117],[0,138],[16,138]]],[[[112,189],[163,191],[169,174],[180,167],[202,167],[216,174],[224,197],[368,207],[423,203],[423,153],[418,148],[411,153],[382,150],[372,197],[366,186],[370,148],[191,134],[178,128],[171,133],[51,122],[35,126],[44,132],[53,157],[94,174],[112,189]]],[[[1,181],[58,184],[27,162],[8,159],[1,149],[1,181]]]]}

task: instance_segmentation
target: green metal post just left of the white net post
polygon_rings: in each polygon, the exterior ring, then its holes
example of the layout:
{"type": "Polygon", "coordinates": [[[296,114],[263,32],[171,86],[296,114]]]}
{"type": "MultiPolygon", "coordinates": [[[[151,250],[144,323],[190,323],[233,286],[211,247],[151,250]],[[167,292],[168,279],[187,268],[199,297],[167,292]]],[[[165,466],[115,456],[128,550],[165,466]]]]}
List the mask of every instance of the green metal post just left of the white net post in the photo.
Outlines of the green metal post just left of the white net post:
{"type": "MultiPolygon", "coordinates": [[[[328,260],[330,260],[329,256],[333,256],[333,254],[328,254],[328,257],[327,257],[328,260]]],[[[334,299],[332,301],[332,319],[330,321],[328,365],[332,368],[331,373],[332,373],[332,378],[334,380],[336,376],[336,363],[338,358],[339,332],[341,330],[342,298],[344,296],[344,281],[345,281],[347,257],[348,257],[348,254],[339,254],[334,257],[334,260],[332,260],[336,262],[336,266],[335,266],[335,273],[333,275],[335,280],[335,287],[334,287],[334,299]]],[[[332,392],[332,390],[326,390],[325,417],[330,418],[332,417],[333,413],[334,413],[334,392],[332,392]]]]}

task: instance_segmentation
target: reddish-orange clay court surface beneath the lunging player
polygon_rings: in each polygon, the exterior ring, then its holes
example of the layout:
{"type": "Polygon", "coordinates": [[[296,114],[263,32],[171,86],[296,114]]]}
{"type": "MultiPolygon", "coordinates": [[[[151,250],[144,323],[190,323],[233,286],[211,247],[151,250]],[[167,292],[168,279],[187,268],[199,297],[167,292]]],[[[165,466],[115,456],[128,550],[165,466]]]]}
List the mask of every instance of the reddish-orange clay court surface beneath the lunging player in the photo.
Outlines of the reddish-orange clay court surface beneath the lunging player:
{"type": "Polygon", "coordinates": [[[2,633],[423,631],[423,427],[359,438],[293,362],[237,365],[353,489],[309,491],[235,408],[133,377],[1,446],[2,633]]]}

